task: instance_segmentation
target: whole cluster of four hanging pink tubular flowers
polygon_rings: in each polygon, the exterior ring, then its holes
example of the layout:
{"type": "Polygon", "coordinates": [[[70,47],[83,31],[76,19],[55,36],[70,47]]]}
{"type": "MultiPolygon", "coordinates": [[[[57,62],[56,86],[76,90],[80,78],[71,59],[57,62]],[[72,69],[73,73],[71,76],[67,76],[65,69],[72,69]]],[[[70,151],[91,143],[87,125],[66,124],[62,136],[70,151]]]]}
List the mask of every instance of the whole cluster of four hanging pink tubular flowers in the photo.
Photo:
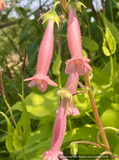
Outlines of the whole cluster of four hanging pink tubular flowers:
{"type": "MultiPolygon", "coordinates": [[[[66,131],[66,115],[76,116],[80,114],[78,109],[73,107],[74,97],[72,94],[76,92],[78,84],[75,82],[78,82],[79,75],[84,75],[87,69],[92,71],[92,68],[88,64],[90,59],[83,58],[81,32],[76,16],[76,9],[69,4],[68,11],[67,40],[72,58],[66,62],[65,73],[69,74],[69,78],[66,88],[57,92],[57,94],[61,96],[60,107],[57,110],[57,117],[54,123],[51,148],[43,154],[43,160],[59,160],[58,155],[63,154],[60,148],[66,131]]],[[[40,45],[36,74],[24,80],[30,80],[31,82],[28,86],[33,87],[37,85],[38,89],[42,92],[47,89],[47,84],[57,86],[57,84],[47,76],[53,53],[54,22],[55,18],[51,16],[40,45]]]]}

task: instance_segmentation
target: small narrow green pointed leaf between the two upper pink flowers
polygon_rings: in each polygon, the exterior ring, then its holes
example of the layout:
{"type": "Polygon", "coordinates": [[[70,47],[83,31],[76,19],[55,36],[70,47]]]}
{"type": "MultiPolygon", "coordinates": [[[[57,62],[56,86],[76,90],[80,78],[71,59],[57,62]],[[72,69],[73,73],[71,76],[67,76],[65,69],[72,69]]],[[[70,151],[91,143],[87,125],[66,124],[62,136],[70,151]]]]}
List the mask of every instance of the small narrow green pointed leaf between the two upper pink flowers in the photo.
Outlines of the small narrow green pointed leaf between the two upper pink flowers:
{"type": "Polygon", "coordinates": [[[58,54],[56,56],[56,59],[54,61],[54,64],[52,66],[52,72],[54,75],[59,75],[60,74],[60,66],[61,66],[61,56],[60,56],[60,47],[58,49],[58,54]]]}

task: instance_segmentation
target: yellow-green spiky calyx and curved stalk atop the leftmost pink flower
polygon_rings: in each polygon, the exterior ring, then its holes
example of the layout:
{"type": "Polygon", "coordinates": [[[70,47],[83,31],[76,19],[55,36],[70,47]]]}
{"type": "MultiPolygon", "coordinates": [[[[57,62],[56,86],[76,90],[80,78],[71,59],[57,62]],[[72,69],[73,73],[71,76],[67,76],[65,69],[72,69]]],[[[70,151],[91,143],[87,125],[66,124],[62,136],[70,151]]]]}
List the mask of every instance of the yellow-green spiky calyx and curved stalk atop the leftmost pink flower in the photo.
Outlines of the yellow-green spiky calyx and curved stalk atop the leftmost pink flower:
{"type": "Polygon", "coordinates": [[[56,22],[57,26],[59,27],[60,19],[59,19],[57,13],[55,12],[55,8],[56,8],[57,4],[60,4],[60,1],[57,1],[54,4],[52,10],[50,10],[50,11],[46,12],[45,14],[43,14],[37,21],[39,21],[41,18],[44,18],[43,23],[42,23],[42,24],[44,24],[49,18],[53,17],[54,22],[56,22]]]}

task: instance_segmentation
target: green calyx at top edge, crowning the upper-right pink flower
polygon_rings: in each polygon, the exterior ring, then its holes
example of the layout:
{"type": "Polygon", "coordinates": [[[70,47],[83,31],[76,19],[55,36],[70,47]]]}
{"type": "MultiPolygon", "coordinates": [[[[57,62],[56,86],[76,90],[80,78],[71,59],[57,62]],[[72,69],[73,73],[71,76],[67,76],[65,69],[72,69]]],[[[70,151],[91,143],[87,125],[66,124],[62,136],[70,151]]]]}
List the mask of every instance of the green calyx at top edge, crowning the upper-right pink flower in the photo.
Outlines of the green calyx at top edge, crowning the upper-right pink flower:
{"type": "Polygon", "coordinates": [[[79,2],[77,0],[69,0],[67,7],[69,7],[69,5],[75,8],[76,10],[79,10],[80,12],[82,12],[81,6],[83,6],[84,8],[87,8],[82,2],[79,2]]]}

